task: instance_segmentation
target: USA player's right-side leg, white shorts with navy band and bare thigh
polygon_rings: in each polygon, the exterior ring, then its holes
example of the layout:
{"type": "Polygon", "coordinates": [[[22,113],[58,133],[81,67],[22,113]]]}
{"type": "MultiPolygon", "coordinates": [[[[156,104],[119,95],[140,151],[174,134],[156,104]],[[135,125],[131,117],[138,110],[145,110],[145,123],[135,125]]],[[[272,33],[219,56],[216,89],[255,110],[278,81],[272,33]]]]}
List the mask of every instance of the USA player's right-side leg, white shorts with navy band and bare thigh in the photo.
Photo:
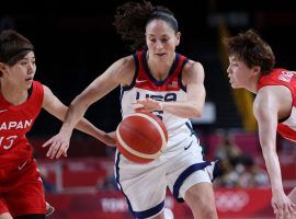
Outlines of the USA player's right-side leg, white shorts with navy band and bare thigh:
{"type": "Polygon", "coordinates": [[[203,160],[198,142],[172,160],[171,173],[168,174],[169,187],[177,200],[186,201],[195,219],[218,218],[210,183],[215,164],[203,160]]]}

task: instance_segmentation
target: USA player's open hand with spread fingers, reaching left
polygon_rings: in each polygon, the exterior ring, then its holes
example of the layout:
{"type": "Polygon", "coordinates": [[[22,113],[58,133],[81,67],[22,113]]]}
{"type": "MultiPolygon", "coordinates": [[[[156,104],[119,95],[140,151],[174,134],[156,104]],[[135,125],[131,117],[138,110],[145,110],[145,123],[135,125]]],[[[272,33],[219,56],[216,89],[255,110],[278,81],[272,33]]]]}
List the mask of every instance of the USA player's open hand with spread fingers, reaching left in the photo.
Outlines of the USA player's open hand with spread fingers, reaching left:
{"type": "Polygon", "coordinates": [[[71,135],[65,135],[62,132],[57,134],[53,138],[50,138],[48,141],[46,141],[42,147],[45,148],[49,146],[49,149],[46,153],[46,157],[50,159],[58,159],[61,154],[64,157],[67,157],[67,151],[69,148],[71,135]]]}

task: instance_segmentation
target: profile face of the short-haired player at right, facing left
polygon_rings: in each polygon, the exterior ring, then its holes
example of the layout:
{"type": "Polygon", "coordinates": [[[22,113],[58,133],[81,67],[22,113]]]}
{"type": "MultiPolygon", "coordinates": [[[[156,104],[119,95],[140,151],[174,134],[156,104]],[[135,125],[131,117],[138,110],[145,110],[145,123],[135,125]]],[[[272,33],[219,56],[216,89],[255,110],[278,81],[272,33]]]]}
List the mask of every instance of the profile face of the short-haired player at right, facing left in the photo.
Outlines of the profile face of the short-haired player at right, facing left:
{"type": "Polygon", "coordinates": [[[229,57],[229,66],[227,68],[229,83],[234,89],[246,88],[250,81],[251,69],[239,60],[236,56],[229,57]]]}

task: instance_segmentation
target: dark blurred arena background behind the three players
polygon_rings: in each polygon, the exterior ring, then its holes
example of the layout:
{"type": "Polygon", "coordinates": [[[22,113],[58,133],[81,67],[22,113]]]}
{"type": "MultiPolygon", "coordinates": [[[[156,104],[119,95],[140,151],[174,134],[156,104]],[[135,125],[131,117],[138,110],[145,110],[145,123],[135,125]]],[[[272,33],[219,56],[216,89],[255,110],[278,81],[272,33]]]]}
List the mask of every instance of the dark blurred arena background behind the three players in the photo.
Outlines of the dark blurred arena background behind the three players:
{"type": "MultiPolygon", "coordinates": [[[[125,1],[66,3],[3,2],[0,30],[14,28],[35,45],[35,79],[69,104],[113,61],[130,54],[112,25],[117,5],[125,1]]],[[[193,119],[205,159],[221,161],[221,176],[214,183],[219,218],[272,218],[270,183],[252,116],[253,95],[232,91],[221,38],[257,30],[272,46],[276,67],[296,69],[296,8],[293,1],[202,0],[156,1],[171,9],[179,21],[178,53],[201,61],[207,91],[203,117],[193,119]],[[258,198],[260,197],[260,198],[258,198]]],[[[121,122],[119,89],[93,104],[86,117],[105,131],[121,122]]],[[[55,219],[132,218],[113,178],[114,149],[79,131],[69,157],[49,160],[41,148],[60,122],[42,112],[27,136],[36,150],[45,180],[46,197],[56,207],[55,219]]],[[[296,148],[277,138],[285,189],[296,185],[296,148]]],[[[177,219],[193,218],[185,205],[170,194],[167,206],[177,219]]]]}

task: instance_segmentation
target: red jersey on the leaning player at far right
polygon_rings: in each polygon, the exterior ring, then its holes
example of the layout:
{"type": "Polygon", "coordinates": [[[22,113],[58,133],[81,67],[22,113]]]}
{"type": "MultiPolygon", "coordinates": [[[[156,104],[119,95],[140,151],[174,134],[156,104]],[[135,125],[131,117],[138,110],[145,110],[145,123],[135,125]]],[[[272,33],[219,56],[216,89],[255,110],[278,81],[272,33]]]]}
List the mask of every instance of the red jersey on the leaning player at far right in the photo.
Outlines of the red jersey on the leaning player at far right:
{"type": "Polygon", "coordinates": [[[284,138],[296,142],[296,71],[273,69],[270,74],[260,78],[258,90],[265,85],[284,85],[289,89],[293,99],[291,115],[278,122],[277,131],[284,138]]]}

